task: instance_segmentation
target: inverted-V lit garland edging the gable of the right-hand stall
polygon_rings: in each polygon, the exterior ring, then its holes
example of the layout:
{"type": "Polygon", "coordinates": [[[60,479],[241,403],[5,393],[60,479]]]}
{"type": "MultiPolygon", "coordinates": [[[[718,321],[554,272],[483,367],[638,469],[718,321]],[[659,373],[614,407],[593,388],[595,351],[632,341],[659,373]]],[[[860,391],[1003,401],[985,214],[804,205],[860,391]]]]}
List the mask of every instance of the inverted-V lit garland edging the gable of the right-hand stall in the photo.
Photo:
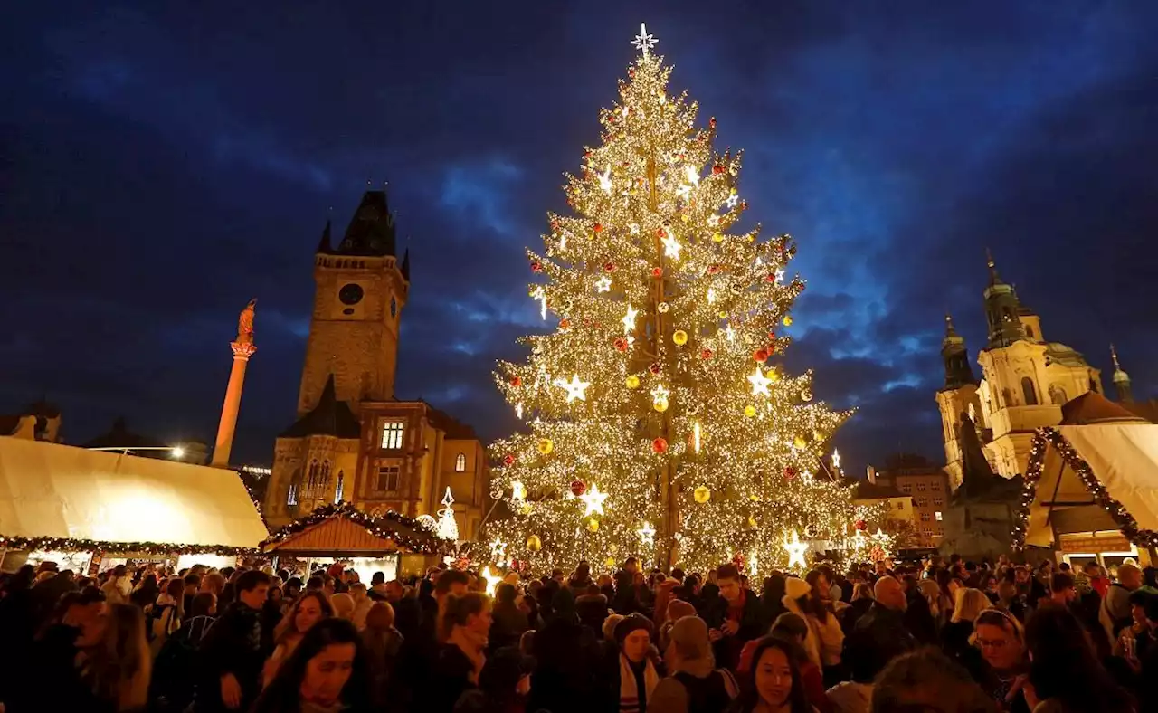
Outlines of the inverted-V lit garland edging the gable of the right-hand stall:
{"type": "Polygon", "coordinates": [[[1013,525],[1013,546],[1018,550],[1025,547],[1025,536],[1029,524],[1029,506],[1033,505],[1038,494],[1038,482],[1046,466],[1046,450],[1049,446],[1057,449],[1065,464],[1077,473],[1082,484],[1085,485],[1094,501],[1114,519],[1122,535],[1139,547],[1158,546],[1158,531],[1138,527],[1138,521],[1130,514],[1126,506],[1111,497],[1109,491],[1101,484],[1094,475],[1090,464],[1078,455],[1076,448],[1056,428],[1039,428],[1029,446],[1029,464],[1026,469],[1025,486],[1021,491],[1021,502],[1017,513],[1017,521],[1013,525]]]}

